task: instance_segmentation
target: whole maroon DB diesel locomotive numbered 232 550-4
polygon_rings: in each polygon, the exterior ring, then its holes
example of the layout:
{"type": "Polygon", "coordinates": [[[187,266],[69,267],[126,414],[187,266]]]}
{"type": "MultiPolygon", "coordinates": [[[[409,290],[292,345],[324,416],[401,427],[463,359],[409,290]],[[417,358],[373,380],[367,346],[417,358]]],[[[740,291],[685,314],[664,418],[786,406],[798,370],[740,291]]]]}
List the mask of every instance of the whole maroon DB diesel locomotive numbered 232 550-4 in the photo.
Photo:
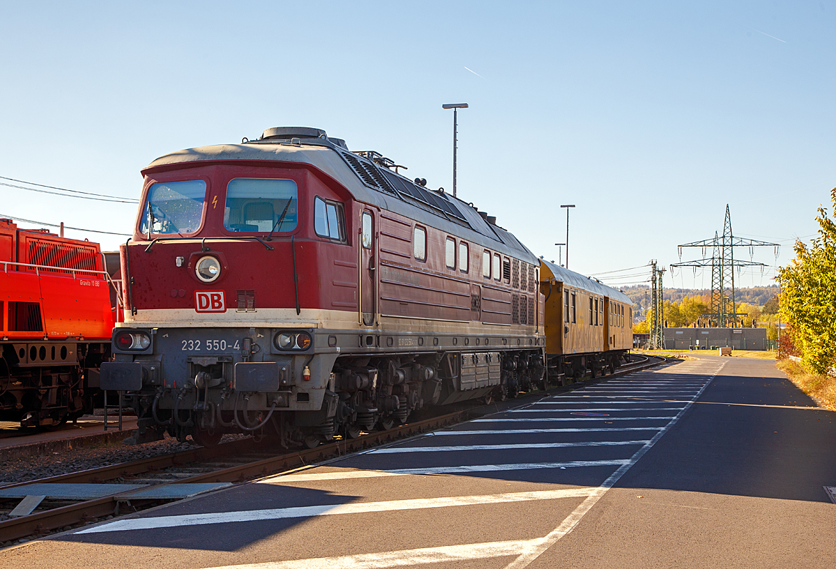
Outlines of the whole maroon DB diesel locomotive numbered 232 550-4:
{"type": "Polygon", "coordinates": [[[543,380],[538,258],[397,169],[277,128],[143,170],[101,378],[127,393],[138,441],[263,429],[316,445],[543,380]]]}

